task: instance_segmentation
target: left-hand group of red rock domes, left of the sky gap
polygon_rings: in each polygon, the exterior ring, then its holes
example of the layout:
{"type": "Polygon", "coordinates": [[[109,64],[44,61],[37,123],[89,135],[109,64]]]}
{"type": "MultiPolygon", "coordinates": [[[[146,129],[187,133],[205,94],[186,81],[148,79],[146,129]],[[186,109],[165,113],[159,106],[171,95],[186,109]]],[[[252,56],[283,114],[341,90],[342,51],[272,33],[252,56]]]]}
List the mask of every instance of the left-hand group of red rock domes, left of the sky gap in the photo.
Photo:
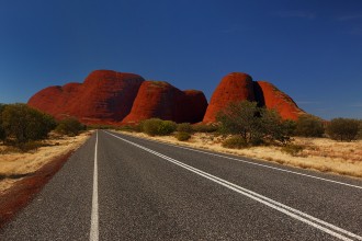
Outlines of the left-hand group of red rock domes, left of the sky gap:
{"type": "Polygon", "coordinates": [[[180,91],[162,81],[134,73],[95,70],[83,83],[49,87],[27,102],[58,119],[77,117],[84,124],[120,125],[158,117],[197,123],[207,107],[201,91],[180,91]]]}

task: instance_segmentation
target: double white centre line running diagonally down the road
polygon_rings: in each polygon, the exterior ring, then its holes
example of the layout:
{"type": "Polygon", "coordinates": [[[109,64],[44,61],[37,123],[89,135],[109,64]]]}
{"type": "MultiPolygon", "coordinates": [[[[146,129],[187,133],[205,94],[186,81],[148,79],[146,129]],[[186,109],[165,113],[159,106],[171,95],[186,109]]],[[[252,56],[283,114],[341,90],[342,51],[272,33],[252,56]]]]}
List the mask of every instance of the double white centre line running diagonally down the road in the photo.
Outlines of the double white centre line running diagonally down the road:
{"type": "Polygon", "coordinates": [[[204,171],[201,171],[199,169],[195,169],[195,168],[193,168],[191,165],[184,164],[183,162],[180,162],[178,160],[174,160],[172,158],[169,158],[169,157],[167,157],[165,154],[161,154],[161,153],[159,153],[157,151],[154,151],[151,149],[148,149],[148,148],[146,148],[144,146],[140,146],[138,144],[135,144],[135,142],[132,142],[129,140],[126,140],[126,139],[124,139],[122,137],[115,136],[115,135],[110,134],[110,133],[106,133],[106,134],[109,134],[109,135],[111,135],[111,136],[113,136],[115,138],[118,138],[118,139],[123,140],[125,142],[128,142],[128,144],[131,144],[131,145],[133,145],[135,147],[138,147],[138,148],[140,148],[140,149],[143,149],[145,151],[148,151],[148,152],[150,152],[150,153],[152,153],[152,154],[155,154],[157,157],[160,157],[160,158],[162,158],[162,159],[165,159],[165,160],[167,160],[169,162],[172,162],[172,163],[174,163],[174,164],[177,164],[177,165],[179,165],[179,167],[181,167],[183,169],[186,169],[186,170],[189,170],[189,171],[191,171],[191,172],[193,172],[195,174],[199,174],[199,175],[201,175],[201,176],[203,176],[205,179],[208,179],[208,180],[211,180],[211,181],[213,181],[213,182],[215,182],[215,183],[217,183],[219,185],[223,185],[223,186],[225,186],[225,187],[227,187],[229,190],[233,190],[233,191],[235,191],[235,192],[237,192],[239,194],[242,194],[242,195],[245,195],[245,196],[247,196],[247,197],[249,197],[251,199],[254,199],[254,200],[257,200],[257,202],[259,202],[261,204],[264,204],[264,205],[267,205],[267,206],[269,206],[269,207],[271,207],[271,208],[273,208],[275,210],[279,210],[279,211],[281,211],[281,213],[283,213],[283,214],[285,214],[285,215],[287,215],[287,216],[290,216],[290,217],[292,217],[294,219],[296,219],[296,220],[299,220],[302,222],[305,222],[305,223],[307,223],[307,225],[309,225],[309,226],[312,226],[314,228],[317,228],[317,229],[319,229],[319,230],[321,230],[321,231],[324,231],[324,232],[326,232],[326,233],[328,233],[330,236],[333,236],[333,237],[336,237],[338,239],[341,239],[341,240],[353,240],[353,239],[362,240],[362,237],[360,237],[358,234],[354,234],[354,233],[352,233],[350,231],[347,231],[347,230],[344,230],[342,228],[339,228],[337,226],[333,226],[333,225],[331,225],[329,222],[326,222],[326,221],[324,221],[321,219],[318,219],[316,217],[313,217],[313,216],[310,216],[308,214],[305,214],[303,211],[299,211],[297,209],[294,209],[294,208],[292,208],[290,206],[286,206],[286,205],[284,205],[282,203],[279,203],[276,200],[273,200],[273,199],[271,199],[269,197],[265,197],[265,196],[260,195],[258,193],[254,193],[254,192],[252,192],[250,190],[247,190],[247,188],[244,188],[241,186],[238,186],[238,185],[236,185],[234,183],[230,183],[230,182],[228,182],[226,180],[219,179],[219,177],[217,177],[215,175],[212,175],[212,174],[210,174],[207,172],[204,172],[204,171]]]}

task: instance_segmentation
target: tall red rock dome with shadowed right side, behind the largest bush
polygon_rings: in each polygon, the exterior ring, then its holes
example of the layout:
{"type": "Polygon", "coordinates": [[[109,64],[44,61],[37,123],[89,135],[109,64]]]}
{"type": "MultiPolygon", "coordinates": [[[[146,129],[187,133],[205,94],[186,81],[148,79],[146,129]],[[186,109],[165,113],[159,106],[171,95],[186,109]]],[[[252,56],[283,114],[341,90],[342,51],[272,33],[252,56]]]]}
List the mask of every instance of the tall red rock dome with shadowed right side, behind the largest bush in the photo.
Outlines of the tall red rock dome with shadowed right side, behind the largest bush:
{"type": "Polygon", "coordinates": [[[231,72],[223,78],[214,91],[203,122],[216,122],[217,113],[231,102],[254,100],[251,77],[242,72],[231,72]]]}

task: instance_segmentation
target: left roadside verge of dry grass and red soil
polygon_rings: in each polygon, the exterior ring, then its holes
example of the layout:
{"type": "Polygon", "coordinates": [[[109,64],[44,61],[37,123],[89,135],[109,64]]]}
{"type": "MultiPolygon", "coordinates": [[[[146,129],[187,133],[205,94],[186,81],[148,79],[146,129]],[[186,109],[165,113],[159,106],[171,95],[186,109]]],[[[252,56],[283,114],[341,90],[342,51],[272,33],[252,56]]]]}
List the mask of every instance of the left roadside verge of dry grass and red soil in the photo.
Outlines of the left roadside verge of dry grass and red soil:
{"type": "Polygon", "coordinates": [[[89,136],[53,138],[31,153],[0,154],[0,228],[32,200],[89,136]]]}

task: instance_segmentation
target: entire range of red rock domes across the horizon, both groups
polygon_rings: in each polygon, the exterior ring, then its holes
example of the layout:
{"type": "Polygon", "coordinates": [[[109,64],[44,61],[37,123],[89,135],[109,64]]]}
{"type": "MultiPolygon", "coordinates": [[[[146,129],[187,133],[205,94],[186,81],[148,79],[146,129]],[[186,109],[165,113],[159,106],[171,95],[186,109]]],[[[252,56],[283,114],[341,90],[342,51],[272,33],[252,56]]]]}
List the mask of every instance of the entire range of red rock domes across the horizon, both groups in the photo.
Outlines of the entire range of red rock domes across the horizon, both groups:
{"type": "Polygon", "coordinates": [[[285,93],[265,81],[252,81],[247,73],[223,78],[207,105],[203,92],[181,91],[165,81],[145,81],[138,74],[95,70],[83,83],[48,87],[27,102],[58,119],[77,117],[84,124],[126,125],[147,118],[177,123],[214,123],[230,102],[256,101],[274,108],[284,119],[297,119],[304,112],[285,93]]]}

